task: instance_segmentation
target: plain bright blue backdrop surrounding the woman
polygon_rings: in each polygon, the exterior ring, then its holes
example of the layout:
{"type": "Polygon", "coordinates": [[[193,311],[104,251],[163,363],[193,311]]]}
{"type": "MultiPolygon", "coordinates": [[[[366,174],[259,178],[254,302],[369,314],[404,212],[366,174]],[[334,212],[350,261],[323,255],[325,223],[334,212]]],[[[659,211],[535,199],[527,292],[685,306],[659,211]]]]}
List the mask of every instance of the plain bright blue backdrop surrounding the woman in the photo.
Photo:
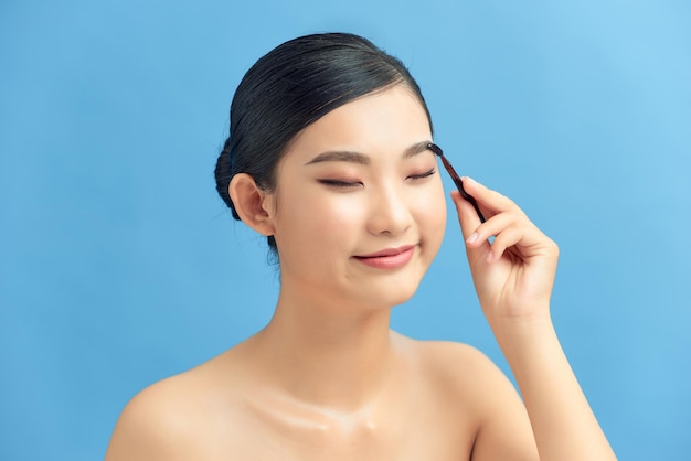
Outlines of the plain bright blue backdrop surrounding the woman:
{"type": "MultiPolygon", "coordinates": [[[[334,30],[400,56],[457,170],[560,244],[553,318],[619,458],[689,459],[691,6],[673,0],[3,0],[0,459],[102,458],[134,394],[266,323],[275,268],[212,171],[244,72],[334,30]]],[[[453,215],[393,324],[508,371],[453,215]]]]}

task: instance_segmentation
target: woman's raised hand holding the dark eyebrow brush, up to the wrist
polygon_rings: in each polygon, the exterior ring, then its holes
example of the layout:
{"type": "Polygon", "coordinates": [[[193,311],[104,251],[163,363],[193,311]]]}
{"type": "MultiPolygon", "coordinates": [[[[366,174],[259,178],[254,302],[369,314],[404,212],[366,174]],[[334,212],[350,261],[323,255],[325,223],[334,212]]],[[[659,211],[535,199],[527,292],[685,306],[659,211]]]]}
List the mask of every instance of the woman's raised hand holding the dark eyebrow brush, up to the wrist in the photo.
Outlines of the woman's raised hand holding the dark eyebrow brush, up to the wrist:
{"type": "Polygon", "coordinates": [[[475,288],[490,324],[550,317],[559,248],[510,199],[464,178],[487,217],[481,224],[457,191],[451,197],[466,239],[475,288]],[[490,244],[489,238],[495,237],[490,244]]]}

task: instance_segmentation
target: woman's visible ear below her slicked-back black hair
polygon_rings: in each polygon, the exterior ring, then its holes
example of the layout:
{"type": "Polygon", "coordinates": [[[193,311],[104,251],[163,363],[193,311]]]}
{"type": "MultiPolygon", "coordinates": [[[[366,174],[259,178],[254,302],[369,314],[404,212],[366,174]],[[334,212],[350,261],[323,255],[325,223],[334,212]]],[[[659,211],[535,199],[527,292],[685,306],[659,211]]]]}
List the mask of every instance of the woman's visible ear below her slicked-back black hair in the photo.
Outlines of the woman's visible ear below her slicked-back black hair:
{"type": "Polygon", "coordinates": [[[247,173],[238,173],[228,184],[228,193],[240,218],[262,235],[274,235],[273,194],[257,186],[247,173]]]}

